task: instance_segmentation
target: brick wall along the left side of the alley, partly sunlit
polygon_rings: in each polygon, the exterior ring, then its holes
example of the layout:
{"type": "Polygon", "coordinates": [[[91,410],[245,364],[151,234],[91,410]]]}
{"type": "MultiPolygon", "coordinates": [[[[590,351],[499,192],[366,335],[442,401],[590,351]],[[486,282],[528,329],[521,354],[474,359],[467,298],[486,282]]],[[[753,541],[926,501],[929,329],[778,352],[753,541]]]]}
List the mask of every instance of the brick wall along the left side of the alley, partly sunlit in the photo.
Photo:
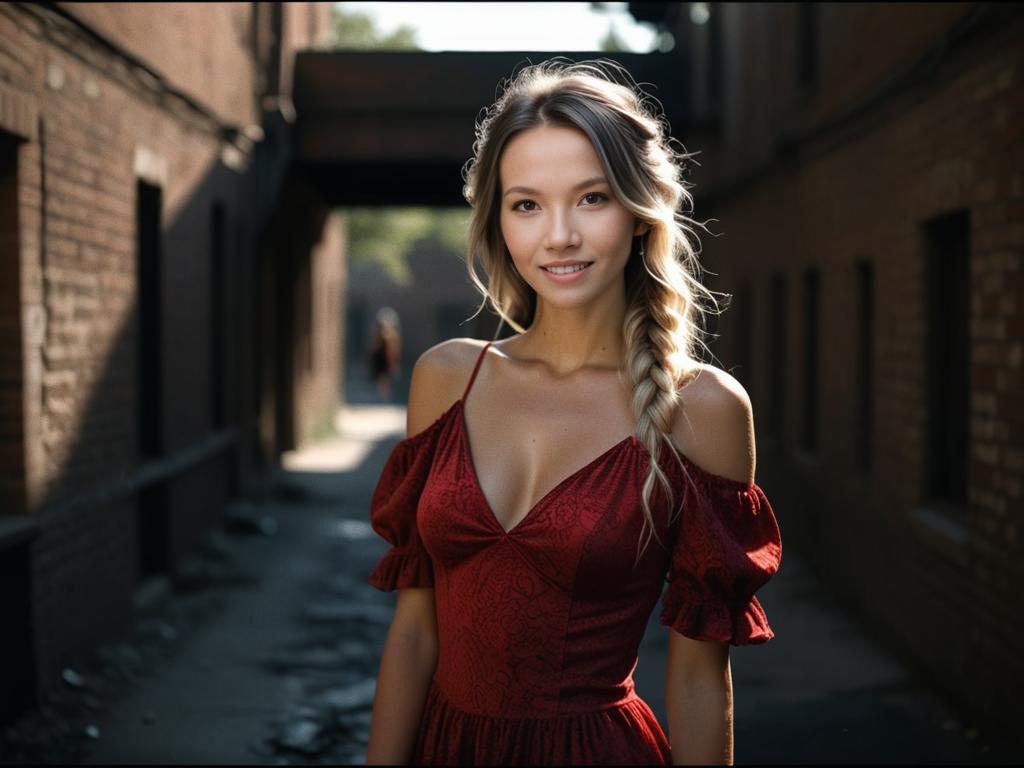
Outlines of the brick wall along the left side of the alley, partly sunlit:
{"type": "MultiPolygon", "coordinates": [[[[153,514],[137,494],[124,490],[129,480],[140,489],[153,484],[140,479],[138,459],[138,179],[162,190],[164,430],[156,464],[167,494],[171,568],[219,519],[237,455],[230,430],[251,432],[245,422],[253,414],[238,403],[251,402],[239,393],[255,386],[242,369],[259,353],[251,348],[256,287],[240,275],[249,270],[264,222],[253,212],[251,166],[244,153],[225,147],[221,130],[262,119],[247,48],[254,6],[61,4],[82,24],[95,25],[105,41],[61,12],[0,6],[0,132],[25,124],[19,130],[29,134],[16,150],[16,189],[0,185],[0,196],[16,194],[17,223],[15,230],[10,218],[0,219],[4,243],[16,231],[15,251],[5,246],[0,258],[7,267],[16,259],[17,269],[5,274],[19,279],[13,309],[5,300],[2,311],[19,313],[22,341],[20,381],[4,379],[17,392],[0,396],[20,397],[14,409],[24,423],[24,438],[14,430],[0,435],[0,455],[4,471],[23,478],[18,493],[26,500],[24,509],[3,513],[28,512],[38,520],[31,589],[40,684],[124,626],[139,577],[137,531],[153,514]],[[14,108],[11,93],[24,97],[14,108]],[[219,394],[212,373],[215,206],[224,212],[225,231],[219,394]],[[217,396],[226,430],[213,424],[217,396]],[[8,455],[14,457],[9,462],[8,455]]],[[[284,15],[293,12],[286,8],[284,15]]],[[[302,30],[319,36],[316,19],[326,16],[312,18],[302,30]]],[[[307,40],[294,35],[285,55],[307,40]]],[[[286,150],[279,143],[268,152],[286,150]]],[[[7,208],[0,203],[0,210],[7,208]]],[[[300,234],[312,242],[316,232],[300,234]]],[[[329,233],[317,263],[331,261],[327,251],[338,247],[329,233]]],[[[337,272],[331,278],[336,282],[337,272]]],[[[316,332],[327,325],[319,321],[316,332]]],[[[326,381],[330,360],[319,365],[326,381]]],[[[321,378],[317,386],[327,391],[321,378]]],[[[326,407],[326,399],[319,402],[326,407]]]]}

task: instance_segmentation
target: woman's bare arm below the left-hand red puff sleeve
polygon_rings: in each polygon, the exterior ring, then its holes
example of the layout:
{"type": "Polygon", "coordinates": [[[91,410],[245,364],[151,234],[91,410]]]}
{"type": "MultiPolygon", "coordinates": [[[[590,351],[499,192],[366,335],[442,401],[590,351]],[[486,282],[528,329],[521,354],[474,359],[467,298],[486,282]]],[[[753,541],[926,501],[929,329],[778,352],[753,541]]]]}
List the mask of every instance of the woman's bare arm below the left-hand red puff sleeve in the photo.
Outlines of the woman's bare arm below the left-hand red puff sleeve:
{"type": "Polygon", "coordinates": [[[399,590],[377,675],[368,765],[412,762],[423,706],[436,666],[434,591],[399,590]]]}

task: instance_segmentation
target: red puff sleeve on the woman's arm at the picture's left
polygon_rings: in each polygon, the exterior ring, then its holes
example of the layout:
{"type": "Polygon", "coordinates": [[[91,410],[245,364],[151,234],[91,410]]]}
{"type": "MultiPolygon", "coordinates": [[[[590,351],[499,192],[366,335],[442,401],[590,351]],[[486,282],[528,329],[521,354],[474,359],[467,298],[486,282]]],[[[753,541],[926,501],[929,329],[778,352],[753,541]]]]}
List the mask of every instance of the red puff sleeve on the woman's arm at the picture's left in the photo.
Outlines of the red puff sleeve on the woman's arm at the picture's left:
{"type": "Polygon", "coordinates": [[[430,474],[436,432],[429,428],[394,446],[370,502],[370,522],[391,545],[368,580],[384,592],[434,586],[433,564],[420,540],[416,510],[430,474]]]}

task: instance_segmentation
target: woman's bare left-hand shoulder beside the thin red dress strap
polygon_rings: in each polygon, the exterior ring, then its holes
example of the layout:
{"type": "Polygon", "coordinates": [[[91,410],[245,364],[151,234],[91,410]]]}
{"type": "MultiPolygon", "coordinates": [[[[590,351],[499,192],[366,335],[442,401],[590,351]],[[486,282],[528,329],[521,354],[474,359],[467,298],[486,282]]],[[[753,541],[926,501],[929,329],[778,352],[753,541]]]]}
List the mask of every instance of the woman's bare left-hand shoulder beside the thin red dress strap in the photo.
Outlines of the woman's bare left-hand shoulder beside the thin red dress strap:
{"type": "Polygon", "coordinates": [[[455,404],[484,344],[479,339],[449,339],[420,355],[409,386],[406,434],[423,431],[455,404]]]}

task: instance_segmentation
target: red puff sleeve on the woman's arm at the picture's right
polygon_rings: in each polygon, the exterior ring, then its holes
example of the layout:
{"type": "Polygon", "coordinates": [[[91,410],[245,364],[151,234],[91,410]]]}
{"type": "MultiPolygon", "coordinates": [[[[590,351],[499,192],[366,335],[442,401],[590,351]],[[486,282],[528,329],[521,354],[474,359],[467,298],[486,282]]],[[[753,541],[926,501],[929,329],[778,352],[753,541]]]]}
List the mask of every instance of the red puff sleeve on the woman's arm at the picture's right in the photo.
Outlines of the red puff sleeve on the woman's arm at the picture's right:
{"type": "Polygon", "coordinates": [[[782,556],[771,505],[756,483],[692,463],[687,474],[660,622],[694,640],[767,642],[774,633],[754,593],[782,556]]]}

